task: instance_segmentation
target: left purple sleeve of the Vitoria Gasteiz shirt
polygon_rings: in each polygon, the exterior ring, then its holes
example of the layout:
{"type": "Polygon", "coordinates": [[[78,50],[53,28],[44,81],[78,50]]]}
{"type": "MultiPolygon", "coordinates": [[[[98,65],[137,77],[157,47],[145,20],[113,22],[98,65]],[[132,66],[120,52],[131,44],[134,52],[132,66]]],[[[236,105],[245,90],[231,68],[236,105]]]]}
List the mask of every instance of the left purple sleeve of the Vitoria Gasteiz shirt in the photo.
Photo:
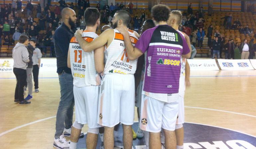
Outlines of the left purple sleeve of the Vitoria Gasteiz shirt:
{"type": "Polygon", "coordinates": [[[138,40],[138,42],[135,45],[135,48],[138,48],[141,50],[142,53],[145,53],[148,50],[149,43],[152,37],[152,33],[150,32],[151,29],[146,30],[138,40]]]}

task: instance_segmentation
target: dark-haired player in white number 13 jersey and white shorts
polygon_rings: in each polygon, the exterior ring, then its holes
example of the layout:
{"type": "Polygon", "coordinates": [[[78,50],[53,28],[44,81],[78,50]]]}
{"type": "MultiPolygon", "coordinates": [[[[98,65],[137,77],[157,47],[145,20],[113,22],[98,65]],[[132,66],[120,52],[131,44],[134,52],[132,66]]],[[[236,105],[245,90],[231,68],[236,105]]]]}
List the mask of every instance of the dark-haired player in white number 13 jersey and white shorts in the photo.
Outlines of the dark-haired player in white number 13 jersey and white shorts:
{"type": "MultiPolygon", "coordinates": [[[[84,12],[86,29],[82,37],[91,42],[98,35],[95,33],[100,25],[100,13],[96,8],[87,8],[84,12]]],[[[71,38],[67,57],[68,67],[73,75],[73,92],[75,100],[75,122],[72,125],[70,149],[76,144],[84,124],[88,124],[86,148],[95,149],[100,125],[97,124],[98,93],[100,76],[104,70],[104,47],[84,52],[75,37],[71,38]]]]}

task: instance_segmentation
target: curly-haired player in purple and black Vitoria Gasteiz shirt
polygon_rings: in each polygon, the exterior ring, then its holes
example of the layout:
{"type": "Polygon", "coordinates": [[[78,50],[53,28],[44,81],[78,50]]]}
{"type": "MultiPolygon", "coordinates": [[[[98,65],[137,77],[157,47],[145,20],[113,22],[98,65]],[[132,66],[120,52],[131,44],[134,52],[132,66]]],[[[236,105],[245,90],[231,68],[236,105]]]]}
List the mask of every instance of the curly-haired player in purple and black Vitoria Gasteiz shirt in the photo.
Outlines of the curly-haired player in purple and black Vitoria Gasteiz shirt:
{"type": "Polygon", "coordinates": [[[183,35],[167,25],[169,13],[166,5],[155,5],[151,14],[157,26],[146,30],[135,47],[127,31],[118,28],[124,36],[129,60],[135,60],[147,52],[140,128],[150,132],[151,149],[161,149],[161,128],[164,129],[166,148],[176,148],[174,130],[179,108],[181,56],[191,56],[183,35]]]}

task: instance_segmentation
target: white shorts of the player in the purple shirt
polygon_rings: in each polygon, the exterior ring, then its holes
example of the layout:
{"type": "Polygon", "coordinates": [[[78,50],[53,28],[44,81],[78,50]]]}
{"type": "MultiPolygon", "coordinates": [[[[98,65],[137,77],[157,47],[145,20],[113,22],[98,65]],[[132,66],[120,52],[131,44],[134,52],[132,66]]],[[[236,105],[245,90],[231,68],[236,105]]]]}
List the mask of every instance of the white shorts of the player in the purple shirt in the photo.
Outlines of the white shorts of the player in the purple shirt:
{"type": "Polygon", "coordinates": [[[174,131],[179,101],[167,103],[142,95],[140,128],[149,132],[160,132],[161,128],[174,131]]]}

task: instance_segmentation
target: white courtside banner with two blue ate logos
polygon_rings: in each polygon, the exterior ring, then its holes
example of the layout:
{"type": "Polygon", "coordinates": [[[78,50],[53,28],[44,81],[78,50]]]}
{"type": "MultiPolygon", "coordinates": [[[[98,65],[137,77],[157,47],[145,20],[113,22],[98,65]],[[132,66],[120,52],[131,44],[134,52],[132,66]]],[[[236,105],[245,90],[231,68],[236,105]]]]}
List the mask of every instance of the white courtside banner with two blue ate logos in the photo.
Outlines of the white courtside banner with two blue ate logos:
{"type": "Polygon", "coordinates": [[[218,59],[221,70],[254,70],[250,60],[218,59]]]}

